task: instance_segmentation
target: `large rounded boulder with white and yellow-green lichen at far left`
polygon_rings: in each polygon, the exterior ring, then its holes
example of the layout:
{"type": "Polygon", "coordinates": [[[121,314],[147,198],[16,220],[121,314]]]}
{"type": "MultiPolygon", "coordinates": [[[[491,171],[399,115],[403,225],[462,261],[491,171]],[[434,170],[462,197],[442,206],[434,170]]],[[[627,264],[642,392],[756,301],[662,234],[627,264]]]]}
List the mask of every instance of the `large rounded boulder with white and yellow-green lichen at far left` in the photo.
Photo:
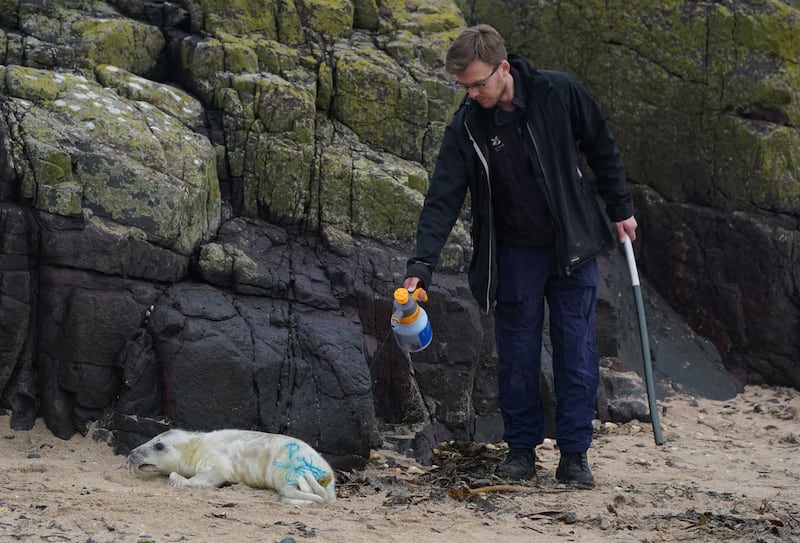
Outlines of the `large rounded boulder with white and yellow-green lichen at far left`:
{"type": "Polygon", "coordinates": [[[219,224],[216,154],[204,136],[146,102],[79,74],[6,69],[20,192],[45,213],[99,215],[190,253],[219,224]]]}

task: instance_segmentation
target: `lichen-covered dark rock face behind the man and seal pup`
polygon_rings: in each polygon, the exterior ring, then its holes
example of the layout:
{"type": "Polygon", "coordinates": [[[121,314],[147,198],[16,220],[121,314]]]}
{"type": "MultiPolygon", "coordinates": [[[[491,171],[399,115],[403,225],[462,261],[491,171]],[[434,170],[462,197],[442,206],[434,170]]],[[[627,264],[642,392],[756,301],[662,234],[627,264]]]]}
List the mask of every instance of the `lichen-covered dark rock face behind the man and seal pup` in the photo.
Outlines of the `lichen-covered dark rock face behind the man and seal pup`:
{"type": "MultiPolygon", "coordinates": [[[[259,429],[340,466],[363,462],[384,425],[427,425],[420,443],[500,439],[491,317],[463,276],[467,222],[430,289],[433,345],[409,366],[389,335],[390,295],[461,99],[442,75],[467,23],[459,5],[220,5],[0,0],[0,407],[11,425],[41,416],[68,438],[100,420],[120,451],[165,424],[259,429]]],[[[599,2],[497,5],[463,13],[540,65],[581,75],[626,151],[637,250],[658,289],[648,311],[659,392],[730,395],[723,361],[746,378],[800,383],[787,295],[798,279],[786,167],[797,104],[785,91],[797,68],[779,22],[796,11],[675,3],[687,41],[651,51],[614,44],[643,42],[637,25],[671,24],[669,10],[662,21],[638,6],[605,15],[599,2]],[[530,31],[510,30],[508,14],[530,31]],[[729,69],[696,60],[704,42],[690,31],[709,21],[730,30],[709,42],[729,69]],[[553,47],[569,25],[604,29],[603,47],[553,47]],[[757,40],[759,25],[773,41],[757,40]],[[732,73],[739,90],[709,101],[732,73]],[[732,248],[753,241],[758,258],[734,265],[732,248]]],[[[598,412],[641,416],[635,401],[610,403],[640,354],[621,255],[603,267],[598,338],[622,381],[608,373],[598,412]]]]}

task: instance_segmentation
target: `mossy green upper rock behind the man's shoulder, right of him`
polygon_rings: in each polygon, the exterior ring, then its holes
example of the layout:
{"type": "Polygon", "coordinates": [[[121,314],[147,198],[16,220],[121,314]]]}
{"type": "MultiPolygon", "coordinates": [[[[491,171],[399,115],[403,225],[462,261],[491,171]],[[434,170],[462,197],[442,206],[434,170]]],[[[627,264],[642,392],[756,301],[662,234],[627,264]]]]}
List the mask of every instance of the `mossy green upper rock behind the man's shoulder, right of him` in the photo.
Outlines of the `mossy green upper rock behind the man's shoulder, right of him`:
{"type": "Polygon", "coordinates": [[[478,0],[464,7],[535,67],[577,76],[606,113],[632,180],[677,202],[796,211],[797,6],[574,0],[531,9],[478,0]]]}

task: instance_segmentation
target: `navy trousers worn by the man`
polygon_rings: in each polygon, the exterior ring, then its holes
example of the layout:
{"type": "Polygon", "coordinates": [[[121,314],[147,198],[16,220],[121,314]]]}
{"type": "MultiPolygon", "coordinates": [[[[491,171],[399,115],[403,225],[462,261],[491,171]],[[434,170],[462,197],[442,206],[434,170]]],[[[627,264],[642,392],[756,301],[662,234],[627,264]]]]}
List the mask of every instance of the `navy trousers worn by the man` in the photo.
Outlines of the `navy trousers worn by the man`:
{"type": "Polygon", "coordinates": [[[600,381],[595,340],[599,270],[592,260],[568,277],[555,272],[552,248],[498,247],[495,343],[498,405],[509,447],[544,440],[539,391],[544,304],[550,313],[556,440],[563,453],[584,452],[600,381]]]}

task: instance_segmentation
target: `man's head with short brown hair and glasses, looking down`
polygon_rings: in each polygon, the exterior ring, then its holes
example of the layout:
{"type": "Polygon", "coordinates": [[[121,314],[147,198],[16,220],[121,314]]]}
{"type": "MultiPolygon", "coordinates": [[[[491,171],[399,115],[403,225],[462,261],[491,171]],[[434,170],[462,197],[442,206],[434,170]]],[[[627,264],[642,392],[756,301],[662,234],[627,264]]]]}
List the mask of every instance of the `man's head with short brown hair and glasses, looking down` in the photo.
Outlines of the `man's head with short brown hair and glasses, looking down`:
{"type": "Polygon", "coordinates": [[[514,97],[511,68],[503,38],[489,25],[472,26],[447,50],[445,70],[478,104],[493,108],[514,97]]]}

